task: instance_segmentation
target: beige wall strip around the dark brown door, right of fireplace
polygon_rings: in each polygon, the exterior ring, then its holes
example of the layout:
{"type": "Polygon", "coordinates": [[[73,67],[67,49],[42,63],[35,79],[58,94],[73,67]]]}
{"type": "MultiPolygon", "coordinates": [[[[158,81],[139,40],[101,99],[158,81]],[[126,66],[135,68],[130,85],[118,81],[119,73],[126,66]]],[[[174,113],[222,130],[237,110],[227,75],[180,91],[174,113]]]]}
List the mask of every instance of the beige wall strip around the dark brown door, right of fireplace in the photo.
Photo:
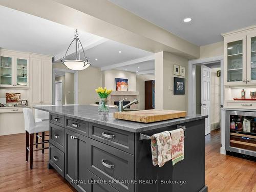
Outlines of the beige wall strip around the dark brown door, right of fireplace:
{"type": "Polygon", "coordinates": [[[145,81],[148,80],[155,80],[155,74],[143,74],[137,75],[137,91],[139,92],[139,104],[138,109],[144,110],[145,109],[145,81]]]}

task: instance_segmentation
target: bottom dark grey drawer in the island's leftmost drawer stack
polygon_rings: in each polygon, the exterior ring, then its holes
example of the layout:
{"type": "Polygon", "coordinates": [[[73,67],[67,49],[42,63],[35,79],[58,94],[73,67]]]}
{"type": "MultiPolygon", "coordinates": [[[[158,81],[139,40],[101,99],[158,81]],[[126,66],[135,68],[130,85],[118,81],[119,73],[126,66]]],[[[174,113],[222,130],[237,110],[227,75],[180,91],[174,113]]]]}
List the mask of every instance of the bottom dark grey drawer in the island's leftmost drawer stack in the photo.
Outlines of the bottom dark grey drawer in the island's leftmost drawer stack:
{"type": "Polygon", "coordinates": [[[53,144],[49,144],[49,163],[64,177],[64,153],[53,144]]]}

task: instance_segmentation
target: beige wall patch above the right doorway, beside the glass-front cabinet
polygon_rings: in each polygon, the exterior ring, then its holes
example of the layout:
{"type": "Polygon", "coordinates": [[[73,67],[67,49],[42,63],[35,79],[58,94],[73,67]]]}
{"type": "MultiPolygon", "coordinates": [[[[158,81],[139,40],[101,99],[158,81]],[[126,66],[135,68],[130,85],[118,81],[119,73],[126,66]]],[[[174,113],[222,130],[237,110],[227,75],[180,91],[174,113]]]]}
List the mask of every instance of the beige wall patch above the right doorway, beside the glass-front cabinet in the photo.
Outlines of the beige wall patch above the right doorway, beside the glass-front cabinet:
{"type": "Polygon", "coordinates": [[[216,42],[206,46],[200,46],[200,58],[216,57],[224,54],[224,42],[216,42]]]}

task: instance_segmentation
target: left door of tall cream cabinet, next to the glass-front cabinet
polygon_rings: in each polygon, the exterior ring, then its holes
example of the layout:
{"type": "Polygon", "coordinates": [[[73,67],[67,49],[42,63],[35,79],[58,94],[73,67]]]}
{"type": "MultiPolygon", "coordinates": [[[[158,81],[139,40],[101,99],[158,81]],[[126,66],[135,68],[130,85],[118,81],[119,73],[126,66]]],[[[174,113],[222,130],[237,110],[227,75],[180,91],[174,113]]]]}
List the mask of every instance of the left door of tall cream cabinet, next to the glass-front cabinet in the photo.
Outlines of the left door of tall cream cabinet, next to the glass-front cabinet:
{"type": "Polygon", "coordinates": [[[41,59],[30,58],[31,103],[41,103],[41,59]]]}

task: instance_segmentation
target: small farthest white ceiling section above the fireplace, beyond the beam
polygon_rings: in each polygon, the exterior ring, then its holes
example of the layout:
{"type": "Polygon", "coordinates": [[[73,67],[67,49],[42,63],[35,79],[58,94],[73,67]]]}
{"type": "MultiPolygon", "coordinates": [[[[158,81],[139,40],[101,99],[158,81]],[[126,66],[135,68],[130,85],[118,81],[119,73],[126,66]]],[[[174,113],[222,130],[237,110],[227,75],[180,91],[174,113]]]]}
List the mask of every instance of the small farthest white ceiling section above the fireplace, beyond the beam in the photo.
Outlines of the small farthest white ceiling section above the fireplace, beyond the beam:
{"type": "Polygon", "coordinates": [[[136,63],[134,65],[119,67],[119,68],[116,68],[116,69],[117,70],[135,72],[135,73],[140,73],[140,72],[143,72],[143,71],[152,71],[152,70],[155,70],[155,60],[139,62],[139,63],[136,63]]]}

